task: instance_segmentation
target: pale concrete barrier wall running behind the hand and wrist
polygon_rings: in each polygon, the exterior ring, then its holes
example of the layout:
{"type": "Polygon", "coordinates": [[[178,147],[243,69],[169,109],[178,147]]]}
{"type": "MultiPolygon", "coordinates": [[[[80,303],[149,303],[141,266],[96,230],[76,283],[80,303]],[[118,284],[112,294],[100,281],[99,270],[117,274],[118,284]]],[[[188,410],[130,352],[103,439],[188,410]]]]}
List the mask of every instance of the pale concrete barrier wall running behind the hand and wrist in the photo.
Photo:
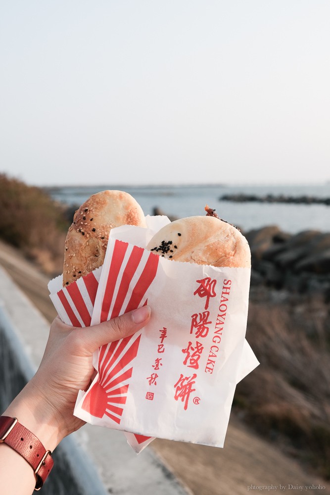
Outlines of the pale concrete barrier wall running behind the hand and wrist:
{"type": "MultiPolygon", "coordinates": [[[[49,324],[0,267],[0,412],[35,373],[49,324]]],[[[53,453],[44,495],[187,495],[156,454],[137,456],[124,435],[85,425],[53,453]]]]}

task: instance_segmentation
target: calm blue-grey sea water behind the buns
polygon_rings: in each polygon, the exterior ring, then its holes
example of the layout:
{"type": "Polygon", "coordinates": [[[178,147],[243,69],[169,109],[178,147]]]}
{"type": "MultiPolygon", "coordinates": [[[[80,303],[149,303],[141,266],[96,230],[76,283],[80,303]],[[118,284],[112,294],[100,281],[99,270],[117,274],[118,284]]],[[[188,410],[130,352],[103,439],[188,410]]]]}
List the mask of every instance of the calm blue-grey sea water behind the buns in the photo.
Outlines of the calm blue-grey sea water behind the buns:
{"type": "Polygon", "coordinates": [[[312,196],[330,198],[330,182],[320,185],[114,185],[58,186],[47,188],[55,200],[77,208],[92,194],[106,189],[126,191],[141,205],[144,214],[159,208],[164,214],[183,218],[204,215],[208,204],[219,217],[243,232],[278,225],[283,232],[296,234],[304,230],[330,232],[330,206],[325,204],[292,204],[223,201],[223,195],[237,193],[265,196],[312,196]]]}

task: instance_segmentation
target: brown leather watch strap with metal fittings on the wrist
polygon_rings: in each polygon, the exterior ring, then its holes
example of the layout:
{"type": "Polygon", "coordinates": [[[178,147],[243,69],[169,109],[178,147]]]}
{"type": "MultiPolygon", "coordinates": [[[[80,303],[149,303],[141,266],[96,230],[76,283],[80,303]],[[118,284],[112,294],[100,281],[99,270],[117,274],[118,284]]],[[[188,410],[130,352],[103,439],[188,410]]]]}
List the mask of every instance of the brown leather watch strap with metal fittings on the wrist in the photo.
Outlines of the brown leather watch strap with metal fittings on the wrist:
{"type": "Polygon", "coordinates": [[[0,416],[0,443],[16,450],[30,464],[36,478],[35,490],[40,490],[54,464],[50,450],[16,418],[9,416],[0,416]]]}

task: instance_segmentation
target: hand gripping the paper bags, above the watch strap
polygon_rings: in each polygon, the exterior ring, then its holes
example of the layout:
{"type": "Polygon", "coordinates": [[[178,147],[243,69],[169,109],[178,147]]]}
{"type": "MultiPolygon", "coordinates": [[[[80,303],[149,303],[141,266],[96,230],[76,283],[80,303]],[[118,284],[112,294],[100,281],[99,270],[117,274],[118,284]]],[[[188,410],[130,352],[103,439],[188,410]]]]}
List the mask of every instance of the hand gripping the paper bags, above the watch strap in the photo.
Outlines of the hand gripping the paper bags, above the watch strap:
{"type": "Polygon", "coordinates": [[[73,416],[73,409],[79,390],[87,390],[93,378],[93,352],[137,332],[149,318],[148,306],[87,328],[68,326],[57,316],[36,375],[3,414],[18,417],[53,450],[84,424],[73,416]]]}

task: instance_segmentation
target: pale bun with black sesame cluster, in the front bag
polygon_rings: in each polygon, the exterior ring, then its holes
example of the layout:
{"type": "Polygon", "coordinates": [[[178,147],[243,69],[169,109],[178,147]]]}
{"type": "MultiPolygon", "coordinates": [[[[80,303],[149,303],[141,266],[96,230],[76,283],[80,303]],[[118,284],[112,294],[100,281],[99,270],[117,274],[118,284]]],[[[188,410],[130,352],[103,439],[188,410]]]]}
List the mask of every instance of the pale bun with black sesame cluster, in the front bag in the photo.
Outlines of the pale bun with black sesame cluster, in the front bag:
{"type": "Polygon", "coordinates": [[[171,222],[153,236],[147,249],[174,261],[198,265],[251,266],[245,237],[236,227],[214,216],[193,216],[171,222]]]}

